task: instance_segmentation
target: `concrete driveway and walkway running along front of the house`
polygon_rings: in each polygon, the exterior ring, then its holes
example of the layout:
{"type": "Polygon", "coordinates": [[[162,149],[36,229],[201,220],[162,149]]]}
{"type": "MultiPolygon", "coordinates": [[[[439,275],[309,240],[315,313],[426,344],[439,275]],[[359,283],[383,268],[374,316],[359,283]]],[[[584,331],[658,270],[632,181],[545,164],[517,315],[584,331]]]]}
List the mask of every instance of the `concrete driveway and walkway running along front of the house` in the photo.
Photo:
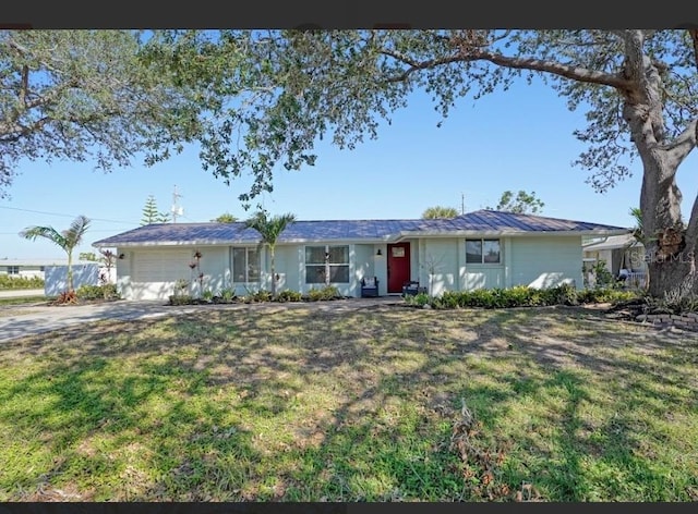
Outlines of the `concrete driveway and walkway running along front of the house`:
{"type": "Polygon", "coordinates": [[[292,302],[260,304],[219,304],[219,305],[166,305],[161,301],[125,301],[89,305],[20,304],[0,305],[0,342],[60,330],[101,319],[132,320],[176,316],[195,313],[201,309],[279,309],[279,308],[315,308],[320,310],[353,310],[378,305],[404,304],[400,296],[383,296],[378,298],[347,298],[332,302],[292,302]]]}

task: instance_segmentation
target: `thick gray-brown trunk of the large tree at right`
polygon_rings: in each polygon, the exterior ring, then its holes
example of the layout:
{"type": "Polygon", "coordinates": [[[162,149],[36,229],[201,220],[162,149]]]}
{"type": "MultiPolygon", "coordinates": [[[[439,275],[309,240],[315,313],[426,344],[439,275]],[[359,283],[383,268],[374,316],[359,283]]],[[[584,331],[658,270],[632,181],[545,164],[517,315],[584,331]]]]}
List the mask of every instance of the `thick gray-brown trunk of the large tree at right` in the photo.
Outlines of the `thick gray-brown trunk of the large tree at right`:
{"type": "Polygon", "coordinates": [[[663,77],[642,50],[642,32],[629,32],[625,42],[624,73],[634,86],[622,91],[623,118],[642,160],[640,210],[649,293],[674,298],[696,294],[698,208],[694,206],[690,221],[685,224],[681,216],[682,194],[676,184],[678,167],[696,145],[695,134],[688,130],[674,138],[667,135],[663,77]]]}

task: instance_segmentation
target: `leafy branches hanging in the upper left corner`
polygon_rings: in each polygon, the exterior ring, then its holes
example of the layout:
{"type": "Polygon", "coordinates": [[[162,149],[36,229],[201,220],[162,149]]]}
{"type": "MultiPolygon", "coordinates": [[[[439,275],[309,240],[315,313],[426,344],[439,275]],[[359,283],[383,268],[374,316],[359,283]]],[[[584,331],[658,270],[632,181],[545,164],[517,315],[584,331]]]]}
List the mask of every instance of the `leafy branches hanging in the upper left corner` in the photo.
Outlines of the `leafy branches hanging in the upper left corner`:
{"type": "Polygon", "coordinates": [[[94,162],[181,150],[190,93],[145,56],[139,30],[0,30],[0,197],[23,159],[94,162]]]}

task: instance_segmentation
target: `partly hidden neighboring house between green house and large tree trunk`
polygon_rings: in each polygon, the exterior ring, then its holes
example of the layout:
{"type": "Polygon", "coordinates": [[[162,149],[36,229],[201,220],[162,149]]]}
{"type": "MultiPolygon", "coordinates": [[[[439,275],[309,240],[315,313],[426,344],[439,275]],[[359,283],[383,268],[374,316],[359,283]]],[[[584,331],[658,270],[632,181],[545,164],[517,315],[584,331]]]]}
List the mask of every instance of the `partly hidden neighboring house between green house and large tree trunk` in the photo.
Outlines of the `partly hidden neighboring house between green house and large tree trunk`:
{"type": "Polygon", "coordinates": [[[643,285],[647,277],[645,246],[631,234],[612,235],[587,242],[582,245],[586,268],[604,262],[616,278],[631,278],[643,285]]]}

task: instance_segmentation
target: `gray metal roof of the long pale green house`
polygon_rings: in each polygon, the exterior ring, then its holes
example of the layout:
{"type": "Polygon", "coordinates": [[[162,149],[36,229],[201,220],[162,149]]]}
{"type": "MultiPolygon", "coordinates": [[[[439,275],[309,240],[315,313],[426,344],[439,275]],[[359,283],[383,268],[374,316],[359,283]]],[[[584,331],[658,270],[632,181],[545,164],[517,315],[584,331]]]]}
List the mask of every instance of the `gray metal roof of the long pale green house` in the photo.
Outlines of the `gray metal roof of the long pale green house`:
{"type": "MultiPolygon", "coordinates": [[[[517,235],[532,233],[580,233],[612,235],[627,228],[495,210],[477,210],[452,219],[435,220],[323,220],[297,221],[277,243],[356,241],[366,243],[397,241],[405,236],[517,235]]],[[[234,223],[158,223],[140,227],[93,246],[146,246],[182,244],[256,244],[260,234],[234,223]]]]}

